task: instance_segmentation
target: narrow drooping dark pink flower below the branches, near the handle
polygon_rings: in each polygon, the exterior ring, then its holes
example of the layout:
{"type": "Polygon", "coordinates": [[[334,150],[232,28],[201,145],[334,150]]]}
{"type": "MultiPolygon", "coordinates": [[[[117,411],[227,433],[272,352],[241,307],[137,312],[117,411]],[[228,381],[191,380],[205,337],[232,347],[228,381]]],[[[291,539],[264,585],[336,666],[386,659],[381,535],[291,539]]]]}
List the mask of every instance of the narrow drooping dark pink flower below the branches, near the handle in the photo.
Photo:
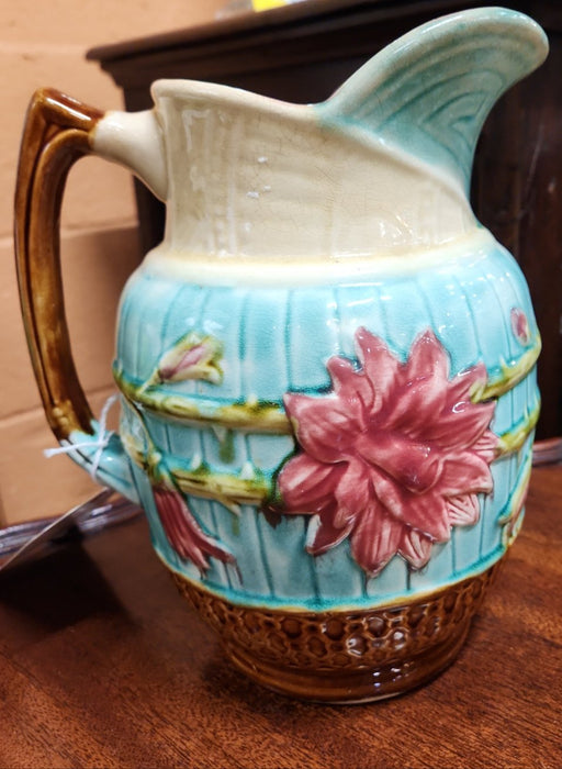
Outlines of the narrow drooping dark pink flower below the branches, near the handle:
{"type": "Polygon", "coordinates": [[[191,560],[201,573],[209,569],[207,556],[234,564],[234,556],[216,539],[207,536],[193,517],[183,495],[164,486],[154,487],[154,501],[168,542],[184,560],[191,560]]]}

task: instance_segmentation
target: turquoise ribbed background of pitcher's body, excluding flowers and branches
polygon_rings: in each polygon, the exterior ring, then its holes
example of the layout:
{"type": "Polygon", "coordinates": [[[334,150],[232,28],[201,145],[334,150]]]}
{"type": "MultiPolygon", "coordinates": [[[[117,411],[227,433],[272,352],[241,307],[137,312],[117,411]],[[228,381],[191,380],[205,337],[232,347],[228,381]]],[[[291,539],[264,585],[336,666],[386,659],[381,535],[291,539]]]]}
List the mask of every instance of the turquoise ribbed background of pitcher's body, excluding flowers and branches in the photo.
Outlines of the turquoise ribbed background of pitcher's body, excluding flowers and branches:
{"type": "MultiPolygon", "coordinates": [[[[517,368],[536,348],[538,332],[519,268],[502,246],[490,244],[488,250],[446,257],[422,274],[380,275],[367,282],[316,288],[178,286],[140,269],[123,298],[116,369],[138,387],[187,328],[211,331],[224,344],[223,382],[168,383],[166,393],[189,398],[207,410],[249,399],[282,410],[285,392],[322,394],[329,389],[326,361],[334,355],[355,359],[358,326],[383,338],[403,358],[429,327],[450,354],[451,376],[482,360],[491,379],[501,377],[506,365],[517,368]],[[514,308],[528,319],[528,345],[513,332],[514,308]]],[[[532,369],[498,399],[491,427],[499,436],[525,430],[532,425],[538,405],[532,369]]],[[[170,468],[204,466],[214,473],[239,477],[249,464],[273,484],[274,473],[294,450],[291,435],[198,428],[149,411],[143,416],[170,468]]],[[[126,406],[122,430],[135,434],[146,448],[137,414],[126,406]]],[[[492,464],[494,491],[482,495],[477,524],[454,527],[449,543],[434,546],[424,569],[412,570],[396,556],[372,580],[351,558],[348,540],[321,556],[306,553],[305,516],[281,516],[273,527],[259,505],[241,505],[233,513],[220,501],[189,494],[200,524],[220,538],[238,565],[236,570],[211,559],[202,578],[168,542],[146,472],[132,464],[132,476],[156,551],[172,570],[203,581],[234,602],[314,609],[372,605],[449,584],[501,558],[508,545],[502,521],[517,504],[531,446],[532,430],[527,430],[520,448],[492,464]]]]}

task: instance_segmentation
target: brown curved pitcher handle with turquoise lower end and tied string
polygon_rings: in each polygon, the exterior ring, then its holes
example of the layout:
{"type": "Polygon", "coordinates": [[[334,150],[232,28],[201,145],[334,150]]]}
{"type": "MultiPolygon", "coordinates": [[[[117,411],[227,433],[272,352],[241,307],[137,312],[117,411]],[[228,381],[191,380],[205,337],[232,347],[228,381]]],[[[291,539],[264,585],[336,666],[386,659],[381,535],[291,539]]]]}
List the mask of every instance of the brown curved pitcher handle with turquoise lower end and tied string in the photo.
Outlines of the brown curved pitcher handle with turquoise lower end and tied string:
{"type": "Polygon", "coordinates": [[[103,112],[38,90],[25,119],[15,189],[15,259],[23,323],[43,408],[69,455],[100,482],[138,501],[121,439],[102,434],[78,379],[65,315],[60,209],[72,165],[94,154],[103,112]]]}

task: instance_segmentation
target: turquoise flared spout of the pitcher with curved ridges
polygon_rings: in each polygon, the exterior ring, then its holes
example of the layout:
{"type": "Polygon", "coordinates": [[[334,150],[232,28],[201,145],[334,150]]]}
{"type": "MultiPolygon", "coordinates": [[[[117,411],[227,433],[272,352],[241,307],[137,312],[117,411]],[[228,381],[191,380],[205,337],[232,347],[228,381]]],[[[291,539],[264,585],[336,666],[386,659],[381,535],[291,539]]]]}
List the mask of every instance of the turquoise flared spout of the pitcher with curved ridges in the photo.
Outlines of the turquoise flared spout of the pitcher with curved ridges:
{"type": "Polygon", "coordinates": [[[547,54],[544,32],[527,15],[503,8],[462,11],[384,48],[317,109],[325,123],[402,148],[468,193],[490,110],[547,54]]]}

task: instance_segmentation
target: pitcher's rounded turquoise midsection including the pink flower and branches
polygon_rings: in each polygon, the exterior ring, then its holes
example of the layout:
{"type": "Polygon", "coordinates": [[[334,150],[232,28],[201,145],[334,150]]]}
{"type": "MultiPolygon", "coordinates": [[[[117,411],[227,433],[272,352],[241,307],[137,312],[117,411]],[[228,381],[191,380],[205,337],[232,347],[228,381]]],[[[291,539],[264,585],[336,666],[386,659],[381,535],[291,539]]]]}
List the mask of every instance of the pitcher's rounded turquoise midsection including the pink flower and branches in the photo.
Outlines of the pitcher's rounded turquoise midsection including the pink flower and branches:
{"type": "Polygon", "coordinates": [[[173,570],[235,602],[327,606],[439,587],[505,551],[539,408],[528,292],[490,237],[412,264],[322,288],[132,279],[122,435],[173,570]],[[155,378],[172,359],[182,374],[155,378]],[[147,467],[228,557],[203,571],[178,557],[147,467]]]}

